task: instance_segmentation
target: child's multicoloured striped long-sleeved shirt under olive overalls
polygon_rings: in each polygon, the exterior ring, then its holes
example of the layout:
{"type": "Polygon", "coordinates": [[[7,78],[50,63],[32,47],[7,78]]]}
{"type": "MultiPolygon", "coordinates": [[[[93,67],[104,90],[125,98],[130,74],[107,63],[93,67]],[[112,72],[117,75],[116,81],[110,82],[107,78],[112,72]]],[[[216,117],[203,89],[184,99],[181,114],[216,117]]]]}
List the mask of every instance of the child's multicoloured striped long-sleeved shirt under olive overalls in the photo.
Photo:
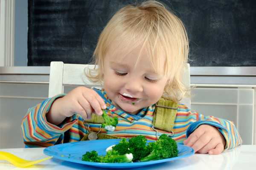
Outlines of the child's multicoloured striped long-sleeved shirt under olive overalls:
{"type": "MultiPolygon", "coordinates": [[[[104,89],[94,90],[104,99],[107,105],[108,115],[111,117],[117,116],[119,121],[116,130],[113,132],[106,131],[102,128],[100,133],[118,137],[144,135],[148,140],[157,140],[156,132],[152,129],[155,104],[145,107],[137,115],[131,115],[113,106],[104,89]]],[[[70,135],[69,142],[80,141],[89,132],[87,126],[83,124],[83,119],[78,114],[66,118],[59,127],[47,122],[46,114],[52,102],[56,98],[63,97],[64,95],[61,94],[53,98],[48,98],[41,104],[28,110],[21,124],[23,140],[28,147],[49,147],[54,144],[61,144],[64,142],[64,132],[66,131],[70,135]]],[[[101,124],[89,124],[89,130],[91,132],[99,132],[101,124]]],[[[233,122],[221,118],[214,118],[213,116],[201,115],[181,103],[179,103],[179,109],[177,110],[172,130],[174,135],[172,138],[175,139],[177,144],[183,144],[183,141],[201,124],[215,126],[224,135],[226,139],[224,150],[241,144],[241,138],[233,122]]],[[[157,130],[159,136],[163,133],[167,135],[172,134],[165,130],[157,130]]]]}

